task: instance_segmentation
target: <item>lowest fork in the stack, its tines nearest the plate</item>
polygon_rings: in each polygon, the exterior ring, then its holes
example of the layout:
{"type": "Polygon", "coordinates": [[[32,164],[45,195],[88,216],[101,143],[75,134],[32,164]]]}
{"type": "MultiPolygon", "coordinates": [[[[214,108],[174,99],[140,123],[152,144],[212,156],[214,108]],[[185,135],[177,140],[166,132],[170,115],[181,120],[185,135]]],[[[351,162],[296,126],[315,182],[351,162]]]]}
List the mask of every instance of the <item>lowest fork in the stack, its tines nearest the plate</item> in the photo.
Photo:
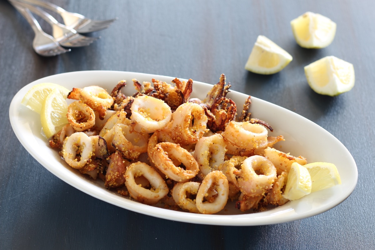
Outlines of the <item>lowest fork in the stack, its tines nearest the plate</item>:
{"type": "Polygon", "coordinates": [[[33,48],[37,54],[45,57],[51,57],[71,51],[71,49],[65,49],[60,46],[52,36],[44,32],[34,16],[31,14],[30,10],[15,5],[12,1],[9,2],[21,13],[21,15],[24,16],[31,28],[33,28],[35,33],[33,48]]]}

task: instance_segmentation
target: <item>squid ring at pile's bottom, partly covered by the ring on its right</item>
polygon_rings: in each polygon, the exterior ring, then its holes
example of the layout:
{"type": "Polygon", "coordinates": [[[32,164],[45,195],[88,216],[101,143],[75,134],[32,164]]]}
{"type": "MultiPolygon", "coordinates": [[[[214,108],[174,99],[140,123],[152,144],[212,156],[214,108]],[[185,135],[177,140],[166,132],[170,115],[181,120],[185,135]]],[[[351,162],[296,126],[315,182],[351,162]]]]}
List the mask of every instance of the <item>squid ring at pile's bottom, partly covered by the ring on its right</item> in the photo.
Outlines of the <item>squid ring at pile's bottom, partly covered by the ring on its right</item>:
{"type": "Polygon", "coordinates": [[[199,213],[195,200],[187,198],[186,195],[187,193],[196,195],[198,193],[199,185],[199,182],[194,181],[180,182],[174,185],[172,189],[172,198],[178,207],[192,213],[199,213]]]}

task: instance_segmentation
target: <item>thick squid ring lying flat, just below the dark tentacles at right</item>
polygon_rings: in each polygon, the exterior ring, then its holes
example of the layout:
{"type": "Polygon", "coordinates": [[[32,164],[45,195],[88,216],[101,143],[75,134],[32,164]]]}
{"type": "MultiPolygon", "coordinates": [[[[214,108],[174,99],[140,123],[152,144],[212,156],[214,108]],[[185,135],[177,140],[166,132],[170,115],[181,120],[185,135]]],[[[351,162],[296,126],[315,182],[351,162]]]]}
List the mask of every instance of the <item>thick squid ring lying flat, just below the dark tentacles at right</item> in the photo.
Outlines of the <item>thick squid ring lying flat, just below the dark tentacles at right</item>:
{"type": "Polygon", "coordinates": [[[252,124],[249,121],[231,121],[226,126],[222,136],[237,147],[252,150],[267,144],[267,129],[261,124],[252,124]]]}

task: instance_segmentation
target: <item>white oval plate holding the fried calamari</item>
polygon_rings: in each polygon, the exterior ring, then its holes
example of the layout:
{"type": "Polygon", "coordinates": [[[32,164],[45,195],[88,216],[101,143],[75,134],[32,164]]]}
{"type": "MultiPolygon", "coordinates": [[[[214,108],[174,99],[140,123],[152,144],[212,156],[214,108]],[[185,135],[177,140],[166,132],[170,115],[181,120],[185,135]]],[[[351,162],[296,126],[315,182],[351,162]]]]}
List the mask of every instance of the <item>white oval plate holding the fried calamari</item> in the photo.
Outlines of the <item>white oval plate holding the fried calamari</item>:
{"type": "MultiPolygon", "coordinates": [[[[333,135],[308,119],[285,108],[252,97],[250,111],[253,118],[259,118],[270,124],[274,131],[270,135],[283,135],[285,142],[276,144],[276,148],[294,156],[304,156],[308,162],[334,163],[341,176],[342,184],[311,193],[297,201],[259,213],[242,213],[229,202],[219,214],[193,214],[183,211],[167,210],[124,198],[116,192],[105,189],[101,180],[94,181],[81,175],[69,167],[58,155],[57,151],[49,147],[48,141],[41,133],[39,115],[21,105],[26,92],[35,84],[54,82],[68,89],[83,88],[89,85],[99,85],[111,91],[120,80],[126,80],[128,85],[125,94],[135,93],[132,79],[151,81],[152,78],[171,82],[173,77],[149,75],[144,73],[120,71],[80,71],[47,76],[23,87],[10,103],[9,118],[12,128],[26,150],[48,171],[77,189],[110,204],[126,208],[154,217],[175,220],[180,222],[254,226],[299,220],[323,213],[344,201],[354,190],[357,184],[357,166],[353,157],[333,135]]],[[[219,79],[219,76],[218,76],[219,79]]],[[[218,80],[217,79],[217,80],[218,80]]],[[[212,85],[201,82],[193,83],[191,97],[203,99],[212,85]]],[[[231,91],[227,97],[233,99],[241,109],[245,94],[231,91]]]]}

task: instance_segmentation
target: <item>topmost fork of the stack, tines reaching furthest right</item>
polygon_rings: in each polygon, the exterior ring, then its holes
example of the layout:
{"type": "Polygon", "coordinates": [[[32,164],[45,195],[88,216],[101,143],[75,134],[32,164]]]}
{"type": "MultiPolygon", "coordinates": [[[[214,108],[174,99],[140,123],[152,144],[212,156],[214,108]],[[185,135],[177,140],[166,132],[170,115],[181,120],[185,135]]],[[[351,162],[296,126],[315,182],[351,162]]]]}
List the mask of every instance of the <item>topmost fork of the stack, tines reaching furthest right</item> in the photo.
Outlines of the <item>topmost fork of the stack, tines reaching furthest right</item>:
{"type": "Polygon", "coordinates": [[[92,20],[81,14],[68,12],[67,10],[53,3],[48,3],[48,2],[39,1],[39,0],[18,0],[18,1],[23,1],[29,4],[34,4],[34,5],[37,5],[37,6],[40,6],[40,7],[43,7],[53,12],[58,13],[63,18],[64,24],[66,26],[73,28],[78,33],[89,33],[93,31],[103,30],[105,28],[108,28],[108,26],[110,26],[112,22],[117,20],[117,18],[104,20],[104,21],[92,20]]]}

